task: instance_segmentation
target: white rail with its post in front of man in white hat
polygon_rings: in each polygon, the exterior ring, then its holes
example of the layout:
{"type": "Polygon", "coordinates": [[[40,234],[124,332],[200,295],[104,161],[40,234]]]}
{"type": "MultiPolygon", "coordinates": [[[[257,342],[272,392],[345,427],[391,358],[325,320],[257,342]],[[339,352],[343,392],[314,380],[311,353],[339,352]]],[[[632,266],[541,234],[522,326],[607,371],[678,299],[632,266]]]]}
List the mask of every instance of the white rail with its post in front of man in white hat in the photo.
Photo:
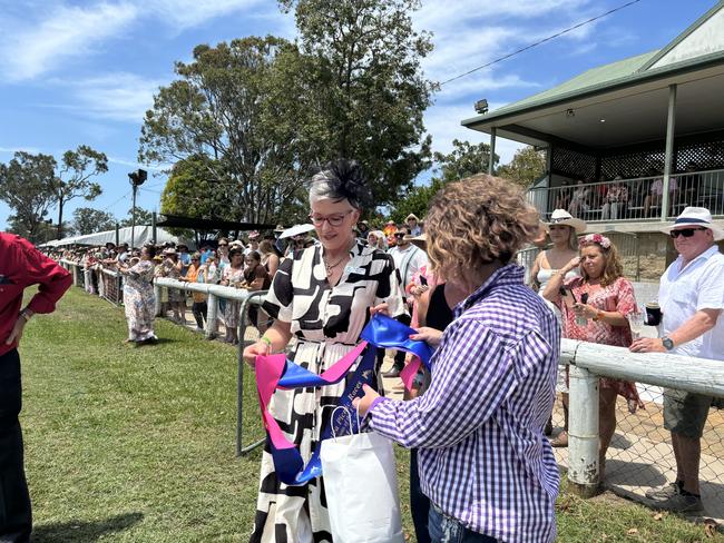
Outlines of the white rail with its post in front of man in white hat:
{"type": "Polygon", "coordinates": [[[568,480],[586,496],[598,490],[598,377],[724,397],[721,361],[562,339],[560,363],[570,365],[568,480]]]}

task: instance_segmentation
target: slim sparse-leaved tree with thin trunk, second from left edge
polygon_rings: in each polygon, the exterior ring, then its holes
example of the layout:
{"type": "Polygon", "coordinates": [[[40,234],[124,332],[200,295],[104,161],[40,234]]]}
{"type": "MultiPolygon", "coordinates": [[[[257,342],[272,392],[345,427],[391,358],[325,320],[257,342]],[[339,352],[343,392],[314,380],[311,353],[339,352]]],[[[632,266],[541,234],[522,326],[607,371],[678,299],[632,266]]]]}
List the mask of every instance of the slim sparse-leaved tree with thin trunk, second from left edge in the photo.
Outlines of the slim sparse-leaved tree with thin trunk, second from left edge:
{"type": "Polygon", "coordinates": [[[62,210],[65,205],[78,197],[95,200],[101,192],[100,185],[91,178],[108,171],[108,158],[104,152],[87,145],[62,155],[60,168],[53,184],[58,206],[58,239],[62,237],[62,210]]]}

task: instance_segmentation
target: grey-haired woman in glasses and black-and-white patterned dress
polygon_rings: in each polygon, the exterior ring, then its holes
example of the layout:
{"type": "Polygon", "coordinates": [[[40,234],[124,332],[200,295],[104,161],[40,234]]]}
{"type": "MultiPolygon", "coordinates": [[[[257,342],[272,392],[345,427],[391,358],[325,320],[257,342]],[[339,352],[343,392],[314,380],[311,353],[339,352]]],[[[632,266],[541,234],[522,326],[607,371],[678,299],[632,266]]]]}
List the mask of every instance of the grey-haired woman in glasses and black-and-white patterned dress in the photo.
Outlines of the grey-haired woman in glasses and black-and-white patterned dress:
{"type": "MultiPolygon", "coordinates": [[[[402,290],[392,258],[355,240],[353,228],[362,206],[371,200],[354,161],[329,164],[312,178],[310,218],[321,246],[309,247],[285,259],[274,277],[264,309],[275,318],[258,343],[244,352],[281,352],[296,337],[293,359],[321,374],[358,343],[372,312],[404,313],[402,290]]],[[[355,366],[352,367],[354,371],[355,366]]],[[[277,391],[270,412],[304,461],[344,392],[345,383],[322,388],[277,391]]],[[[278,481],[268,446],[262,456],[260,493],[252,542],[307,543],[332,541],[326,498],[320,478],[304,486],[278,481]]]]}

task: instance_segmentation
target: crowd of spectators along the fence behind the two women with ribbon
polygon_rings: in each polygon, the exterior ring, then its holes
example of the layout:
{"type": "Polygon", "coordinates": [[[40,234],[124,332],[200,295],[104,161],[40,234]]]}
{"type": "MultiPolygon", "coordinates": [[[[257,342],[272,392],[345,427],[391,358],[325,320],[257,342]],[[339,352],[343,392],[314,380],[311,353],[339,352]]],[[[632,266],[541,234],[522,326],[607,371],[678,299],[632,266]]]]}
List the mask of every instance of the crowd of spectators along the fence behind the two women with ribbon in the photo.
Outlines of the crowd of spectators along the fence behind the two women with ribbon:
{"type": "MultiPolygon", "coordinates": [[[[146,258],[153,265],[151,279],[165,277],[186,283],[266,290],[285,258],[291,258],[295,250],[320,243],[309,233],[281,238],[284,231],[284,226],[277,225],[273,231],[262,234],[255,230],[238,239],[218,237],[199,244],[199,247],[193,251],[185,243],[148,244],[140,248],[131,248],[127,243],[118,245],[107,243],[98,247],[50,248],[47,254],[56,260],[77,264],[84,274],[86,292],[108,297],[114,302],[121,302],[128,296],[124,287],[129,280],[134,286],[138,286],[138,277],[135,275],[129,277],[127,269],[133,269],[144,259],[146,248],[153,251],[153,255],[146,258]],[[118,284],[117,276],[120,276],[123,286],[118,284]]],[[[424,251],[409,241],[421,234],[422,223],[413,214],[401,224],[389,220],[370,226],[370,221],[361,220],[355,226],[355,235],[363,245],[376,247],[392,255],[403,285],[409,285],[411,278],[427,263],[424,251]]],[[[138,297],[133,299],[137,300],[138,297]]],[[[144,299],[147,299],[147,296],[144,299]]],[[[224,298],[219,298],[217,303],[218,319],[225,330],[222,340],[237,344],[241,303],[224,298]]],[[[194,319],[192,324],[195,324],[196,330],[202,332],[206,328],[208,314],[206,294],[192,289],[164,287],[160,289],[159,304],[160,316],[180,325],[189,324],[187,310],[190,308],[194,319]]],[[[130,320],[129,317],[129,323],[130,320]]],[[[138,318],[133,320],[136,322],[138,318]]],[[[147,320],[147,317],[141,320],[147,320]]],[[[248,310],[248,322],[262,333],[271,323],[268,315],[255,306],[248,310]]],[[[140,335],[131,329],[129,339],[136,340],[136,337],[143,336],[145,337],[143,343],[153,343],[155,335],[153,335],[153,327],[149,329],[150,333],[140,335]]],[[[217,334],[218,327],[213,332],[214,336],[217,334]]],[[[399,356],[395,369],[389,376],[397,376],[402,367],[403,357],[399,356]]]]}

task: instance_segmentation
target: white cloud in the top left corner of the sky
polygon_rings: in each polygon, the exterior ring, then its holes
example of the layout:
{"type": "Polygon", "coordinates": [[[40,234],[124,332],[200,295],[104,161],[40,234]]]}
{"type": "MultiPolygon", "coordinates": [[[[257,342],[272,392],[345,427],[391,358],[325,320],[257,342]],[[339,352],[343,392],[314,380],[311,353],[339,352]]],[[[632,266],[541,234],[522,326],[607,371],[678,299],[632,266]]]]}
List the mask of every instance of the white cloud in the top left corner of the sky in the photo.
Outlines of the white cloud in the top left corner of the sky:
{"type": "Polygon", "coordinates": [[[52,7],[35,26],[6,19],[0,68],[11,81],[32,79],[58,69],[65,60],[94,52],[136,16],[130,3],[104,2],[89,8],[52,7]]]}

